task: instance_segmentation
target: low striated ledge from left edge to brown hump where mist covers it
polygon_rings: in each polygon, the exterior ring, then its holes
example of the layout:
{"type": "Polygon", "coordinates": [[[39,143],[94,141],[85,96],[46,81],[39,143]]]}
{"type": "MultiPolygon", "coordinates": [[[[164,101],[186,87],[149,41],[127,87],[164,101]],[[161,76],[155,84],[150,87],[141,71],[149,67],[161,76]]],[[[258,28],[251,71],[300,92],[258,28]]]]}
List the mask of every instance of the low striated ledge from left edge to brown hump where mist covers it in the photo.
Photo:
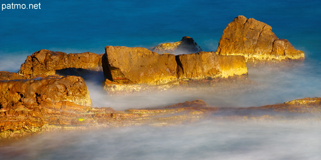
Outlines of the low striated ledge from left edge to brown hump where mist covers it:
{"type": "MultiPolygon", "coordinates": [[[[152,126],[190,123],[205,117],[207,106],[200,100],[173,108],[128,109],[77,105],[69,101],[41,103],[36,106],[2,108],[0,139],[20,137],[53,130],[90,129],[148,124],[152,126]],[[203,110],[202,110],[203,109],[203,110]]],[[[215,110],[215,109],[214,109],[215,110]]]]}

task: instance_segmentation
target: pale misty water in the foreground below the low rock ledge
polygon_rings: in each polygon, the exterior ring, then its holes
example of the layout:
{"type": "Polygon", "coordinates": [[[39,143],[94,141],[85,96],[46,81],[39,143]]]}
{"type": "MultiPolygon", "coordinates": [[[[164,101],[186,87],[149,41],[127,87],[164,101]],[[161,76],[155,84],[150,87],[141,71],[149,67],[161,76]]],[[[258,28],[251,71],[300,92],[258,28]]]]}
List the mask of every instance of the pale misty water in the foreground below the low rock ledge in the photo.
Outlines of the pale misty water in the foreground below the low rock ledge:
{"type": "Polygon", "coordinates": [[[16,159],[320,159],[319,123],[231,122],[48,132],[0,146],[16,159]]]}

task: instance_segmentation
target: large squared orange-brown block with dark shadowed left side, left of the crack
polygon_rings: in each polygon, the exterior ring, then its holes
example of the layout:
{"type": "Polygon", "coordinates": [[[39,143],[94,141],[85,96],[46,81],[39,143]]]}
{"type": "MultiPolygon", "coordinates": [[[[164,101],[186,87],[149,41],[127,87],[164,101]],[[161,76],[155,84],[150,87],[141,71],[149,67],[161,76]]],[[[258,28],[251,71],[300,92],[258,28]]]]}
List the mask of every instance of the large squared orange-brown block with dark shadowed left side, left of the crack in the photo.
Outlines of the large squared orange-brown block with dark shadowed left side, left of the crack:
{"type": "Polygon", "coordinates": [[[158,54],[142,47],[106,46],[105,49],[104,75],[111,81],[154,85],[177,79],[174,54],[158,54]]]}

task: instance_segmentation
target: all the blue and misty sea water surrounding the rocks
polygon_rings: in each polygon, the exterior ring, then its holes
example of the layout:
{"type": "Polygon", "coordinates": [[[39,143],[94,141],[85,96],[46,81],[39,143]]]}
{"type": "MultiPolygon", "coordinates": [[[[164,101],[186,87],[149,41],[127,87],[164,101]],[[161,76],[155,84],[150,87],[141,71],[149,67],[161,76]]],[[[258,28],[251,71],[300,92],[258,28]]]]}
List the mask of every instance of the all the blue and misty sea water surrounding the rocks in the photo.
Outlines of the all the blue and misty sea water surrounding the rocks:
{"type": "MultiPolygon", "coordinates": [[[[279,38],[305,52],[304,62],[292,68],[248,68],[249,78],[259,84],[252,89],[109,96],[97,81],[86,81],[94,106],[122,110],[203,99],[213,106],[248,107],[321,96],[320,0],[1,3],[0,70],[6,71],[17,72],[27,56],[40,49],[104,53],[106,45],[148,48],[191,36],[204,51],[215,51],[224,28],[238,15],[269,24],[279,38]],[[38,9],[9,9],[7,4],[12,3],[41,5],[38,9]]],[[[320,125],[314,121],[202,121],[164,128],[47,133],[1,144],[0,159],[321,159],[320,125]]]]}

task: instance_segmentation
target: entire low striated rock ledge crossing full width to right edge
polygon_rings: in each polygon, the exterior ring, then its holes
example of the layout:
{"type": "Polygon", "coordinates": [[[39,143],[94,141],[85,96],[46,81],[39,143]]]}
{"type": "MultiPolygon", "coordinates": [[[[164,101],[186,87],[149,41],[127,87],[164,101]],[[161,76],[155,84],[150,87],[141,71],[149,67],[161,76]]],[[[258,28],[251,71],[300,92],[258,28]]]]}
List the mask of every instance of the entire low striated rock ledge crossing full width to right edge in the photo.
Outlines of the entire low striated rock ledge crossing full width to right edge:
{"type": "Polygon", "coordinates": [[[129,125],[167,126],[201,119],[320,122],[321,98],[302,98],[260,107],[211,107],[203,100],[160,108],[116,111],[77,105],[70,101],[20,105],[0,110],[0,139],[53,130],[91,129],[129,125]]]}

